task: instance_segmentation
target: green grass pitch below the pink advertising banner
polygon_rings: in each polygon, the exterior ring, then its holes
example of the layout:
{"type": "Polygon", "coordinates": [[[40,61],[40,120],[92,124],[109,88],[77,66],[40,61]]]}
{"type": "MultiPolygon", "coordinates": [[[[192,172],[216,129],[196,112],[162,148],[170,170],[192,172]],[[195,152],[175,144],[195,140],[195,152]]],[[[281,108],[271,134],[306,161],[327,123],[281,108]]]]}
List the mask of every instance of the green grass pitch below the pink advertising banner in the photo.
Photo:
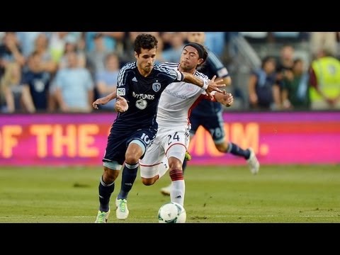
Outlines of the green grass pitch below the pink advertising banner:
{"type": "MultiPolygon", "coordinates": [[[[190,163],[190,162],[189,162],[190,163]]],[[[93,223],[98,211],[102,167],[0,167],[0,222],[93,223]]],[[[185,173],[186,222],[340,222],[340,166],[188,166],[185,173]]],[[[128,220],[113,208],[109,223],[156,223],[159,207],[170,200],[143,186],[139,171],[130,192],[128,220]]]]}

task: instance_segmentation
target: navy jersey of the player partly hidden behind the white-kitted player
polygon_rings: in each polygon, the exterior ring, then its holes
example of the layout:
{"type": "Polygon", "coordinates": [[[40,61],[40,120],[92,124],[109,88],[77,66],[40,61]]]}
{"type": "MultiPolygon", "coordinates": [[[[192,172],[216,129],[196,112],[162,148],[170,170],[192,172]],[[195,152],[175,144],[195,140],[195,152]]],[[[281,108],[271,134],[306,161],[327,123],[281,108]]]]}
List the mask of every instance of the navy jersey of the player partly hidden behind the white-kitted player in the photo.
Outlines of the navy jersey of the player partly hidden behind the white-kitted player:
{"type": "MultiPolygon", "coordinates": [[[[227,68],[210,50],[208,50],[206,62],[203,64],[203,67],[198,69],[198,71],[208,76],[209,79],[212,79],[214,75],[216,75],[216,78],[225,78],[229,76],[227,68]]],[[[222,111],[222,105],[220,103],[202,100],[195,108],[193,108],[192,114],[209,116],[216,114],[218,111],[222,111]]]]}

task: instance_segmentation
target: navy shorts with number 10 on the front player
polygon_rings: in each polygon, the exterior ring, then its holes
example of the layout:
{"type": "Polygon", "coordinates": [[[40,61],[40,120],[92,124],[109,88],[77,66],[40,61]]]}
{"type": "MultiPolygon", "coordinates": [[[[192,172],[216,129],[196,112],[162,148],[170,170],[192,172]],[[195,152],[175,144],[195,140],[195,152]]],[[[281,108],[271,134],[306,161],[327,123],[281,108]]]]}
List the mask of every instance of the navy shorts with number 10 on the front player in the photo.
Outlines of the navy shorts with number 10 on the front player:
{"type": "MultiPolygon", "coordinates": [[[[152,145],[156,137],[157,130],[155,129],[140,129],[136,131],[127,130],[125,132],[117,131],[114,126],[111,128],[108,135],[108,144],[106,145],[103,162],[118,162],[123,164],[125,161],[125,152],[132,140],[139,140],[145,145],[145,149],[152,145]]],[[[144,156],[144,154],[143,154],[144,156]]],[[[142,156],[142,157],[143,157],[142,156]]]]}

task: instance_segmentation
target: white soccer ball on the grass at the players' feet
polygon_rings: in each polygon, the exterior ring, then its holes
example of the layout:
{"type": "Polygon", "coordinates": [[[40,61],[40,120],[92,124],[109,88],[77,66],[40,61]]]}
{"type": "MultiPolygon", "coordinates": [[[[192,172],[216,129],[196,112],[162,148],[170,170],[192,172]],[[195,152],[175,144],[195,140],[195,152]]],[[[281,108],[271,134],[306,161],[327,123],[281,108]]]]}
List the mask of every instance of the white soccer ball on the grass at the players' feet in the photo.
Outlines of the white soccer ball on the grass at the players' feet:
{"type": "Polygon", "coordinates": [[[169,202],[158,210],[159,223],[185,223],[186,209],[179,203],[169,202]]]}

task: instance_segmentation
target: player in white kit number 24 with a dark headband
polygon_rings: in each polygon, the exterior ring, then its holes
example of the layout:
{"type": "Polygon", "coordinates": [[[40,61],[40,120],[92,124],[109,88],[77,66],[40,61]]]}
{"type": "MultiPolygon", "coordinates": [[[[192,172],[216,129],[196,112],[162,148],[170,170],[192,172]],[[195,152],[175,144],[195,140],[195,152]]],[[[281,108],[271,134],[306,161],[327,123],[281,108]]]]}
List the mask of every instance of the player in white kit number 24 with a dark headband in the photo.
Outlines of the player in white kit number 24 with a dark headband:
{"type": "MultiPolygon", "coordinates": [[[[205,74],[196,70],[207,57],[208,52],[203,45],[191,42],[183,48],[180,64],[163,63],[161,66],[208,79],[205,74]]],[[[212,80],[215,80],[215,77],[212,80]]],[[[209,97],[200,87],[184,81],[181,81],[180,85],[177,82],[169,84],[162,92],[157,112],[158,132],[145,156],[140,159],[140,176],[142,183],[152,185],[166,173],[169,166],[171,202],[181,205],[184,203],[185,182],[182,164],[190,140],[191,108],[203,98],[210,98],[225,106],[231,106],[233,103],[232,94],[212,93],[212,96],[213,98],[209,97]]]]}

